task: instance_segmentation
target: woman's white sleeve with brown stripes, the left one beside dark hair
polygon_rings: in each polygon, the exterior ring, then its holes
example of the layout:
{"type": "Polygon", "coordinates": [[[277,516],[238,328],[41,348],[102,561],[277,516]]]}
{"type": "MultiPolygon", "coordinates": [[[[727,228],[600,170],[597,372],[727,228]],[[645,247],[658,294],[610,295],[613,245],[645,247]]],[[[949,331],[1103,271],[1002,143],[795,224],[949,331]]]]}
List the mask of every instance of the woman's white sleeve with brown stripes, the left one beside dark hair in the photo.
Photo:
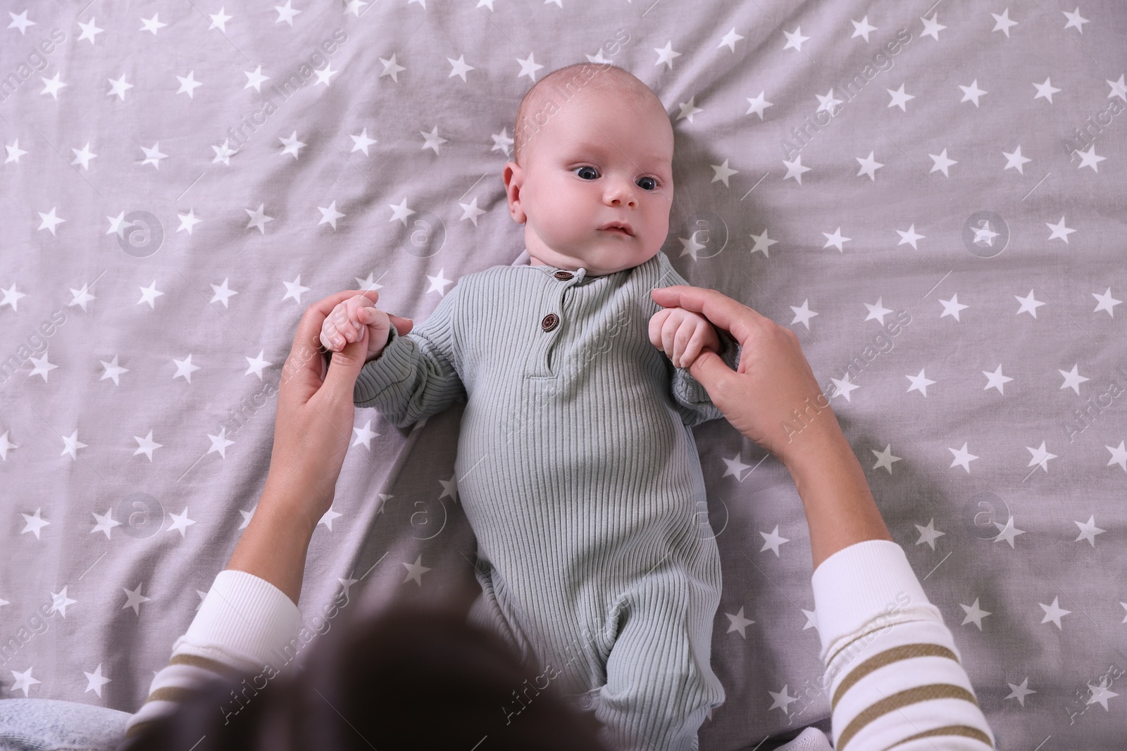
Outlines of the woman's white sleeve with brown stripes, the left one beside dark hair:
{"type": "Polygon", "coordinates": [[[125,724],[125,737],[171,714],[188,692],[216,677],[234,678],[267,663],[281,669],[296,651],[301,611],[282,590],[245,571],[221,571],[172,656],[125,724]]]}

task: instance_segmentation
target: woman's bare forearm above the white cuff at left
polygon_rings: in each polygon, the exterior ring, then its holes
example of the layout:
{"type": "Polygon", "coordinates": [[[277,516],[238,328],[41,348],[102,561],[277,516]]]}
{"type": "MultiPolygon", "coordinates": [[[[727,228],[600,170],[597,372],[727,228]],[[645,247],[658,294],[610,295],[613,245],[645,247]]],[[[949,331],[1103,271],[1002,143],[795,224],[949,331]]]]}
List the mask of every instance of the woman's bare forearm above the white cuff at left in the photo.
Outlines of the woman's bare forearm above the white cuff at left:
{"type": "Polygon", "coordinates": [[[305,554],[318,522],[303,511],[307,506],[274,491],[267,480],[227,567],[265,579],[298,605],[305,554]]]}

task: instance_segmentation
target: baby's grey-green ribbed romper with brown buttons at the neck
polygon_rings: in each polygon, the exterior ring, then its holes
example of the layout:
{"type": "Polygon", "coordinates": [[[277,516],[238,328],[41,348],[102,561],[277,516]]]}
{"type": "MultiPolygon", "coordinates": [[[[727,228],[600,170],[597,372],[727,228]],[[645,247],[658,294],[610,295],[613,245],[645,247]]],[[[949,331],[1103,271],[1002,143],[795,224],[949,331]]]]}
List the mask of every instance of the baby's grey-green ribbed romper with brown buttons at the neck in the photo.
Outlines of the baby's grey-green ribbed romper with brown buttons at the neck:
{"type": "MultiPolygon", "coordinates": [[[[478,540],[471,622],[540,665],[620,749],[692,750],[724,701],[710,664],[720,557],[689,426],[720,417],[650,343],[664,253],[631,269],[499,266],[463,276],[356,381],[406,427],[465,399],[458,493],[478,540]]],[[[725,360],[738,347],[727,334],[725,360]]],[[[533,686],[535,683],[535,686],[533,686]]]]}

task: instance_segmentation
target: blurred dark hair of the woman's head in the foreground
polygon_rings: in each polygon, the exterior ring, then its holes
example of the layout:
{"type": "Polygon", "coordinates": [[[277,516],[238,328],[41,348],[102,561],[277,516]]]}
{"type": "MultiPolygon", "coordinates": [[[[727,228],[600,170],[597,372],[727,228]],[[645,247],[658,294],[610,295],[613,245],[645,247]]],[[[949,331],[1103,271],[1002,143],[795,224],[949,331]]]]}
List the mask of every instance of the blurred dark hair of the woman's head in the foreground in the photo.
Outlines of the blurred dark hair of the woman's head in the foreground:
{"type": "Polygon", "coordinates": [[[535,667],[468,624],[464,613],[397,605],[339,625],[303,665],[287,667],[238,714],[231,692],[241,696],[257,672],[194,689],[118,751],[606,751],[594,717],[553,685],[527,692],[535,667]],[[517,695],[531,700],[513,714],[522,706],[517,695]]]}

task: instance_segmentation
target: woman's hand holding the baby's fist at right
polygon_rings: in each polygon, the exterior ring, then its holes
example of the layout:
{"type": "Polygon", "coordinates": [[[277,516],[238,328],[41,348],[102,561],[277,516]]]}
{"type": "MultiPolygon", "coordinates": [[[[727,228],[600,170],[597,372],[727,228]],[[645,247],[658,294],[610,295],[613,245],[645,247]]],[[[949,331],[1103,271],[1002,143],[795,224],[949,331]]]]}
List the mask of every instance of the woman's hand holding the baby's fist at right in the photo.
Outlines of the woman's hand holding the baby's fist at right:
{"type": "Polygon", "coordinates": [[[701,313],[739,342],[736,370],[717,354],[704,350],[689,373],[747,439],[786,464],[799,444],[813,442],[815,436],[841,435],[793,331],[715,289],[678,285],[651,294],[663,307],[701,313]],[[799,411],[804,422],[796,420],[793,410],[799,411]]]}

